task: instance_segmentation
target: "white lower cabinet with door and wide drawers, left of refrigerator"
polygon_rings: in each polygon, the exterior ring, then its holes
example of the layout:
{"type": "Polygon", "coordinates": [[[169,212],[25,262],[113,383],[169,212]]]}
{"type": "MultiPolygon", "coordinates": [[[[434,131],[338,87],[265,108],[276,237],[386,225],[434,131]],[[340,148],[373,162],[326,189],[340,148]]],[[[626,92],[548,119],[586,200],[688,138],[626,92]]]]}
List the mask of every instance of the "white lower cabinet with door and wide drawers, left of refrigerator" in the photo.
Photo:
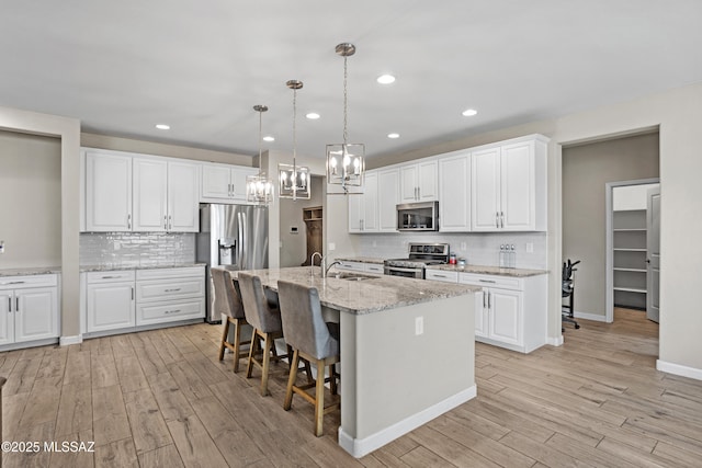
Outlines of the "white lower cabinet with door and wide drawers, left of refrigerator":
{"type": "Polygon", "coordinates": [[[129,332],[202,319],[204,288],[204,266],[88,273],[86,332],[129,332]]]}

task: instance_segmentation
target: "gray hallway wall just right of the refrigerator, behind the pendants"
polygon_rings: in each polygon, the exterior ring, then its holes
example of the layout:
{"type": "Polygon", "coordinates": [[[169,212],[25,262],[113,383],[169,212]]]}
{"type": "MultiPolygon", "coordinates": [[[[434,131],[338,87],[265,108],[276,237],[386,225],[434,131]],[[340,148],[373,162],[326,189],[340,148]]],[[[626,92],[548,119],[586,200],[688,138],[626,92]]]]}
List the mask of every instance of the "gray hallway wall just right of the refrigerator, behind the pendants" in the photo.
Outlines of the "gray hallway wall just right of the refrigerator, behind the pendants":
{"type": "Polygon", "coordinates": [[[299,266],[307,255],[307,228],[303,221],[303,208],[322,206],[325,178],[312,176],[309,199],[293,202],[280,198],[281,216],[281,266],[299,266]],[[291,232],[291,226],[297,226],[297,233],[291,232]]]}

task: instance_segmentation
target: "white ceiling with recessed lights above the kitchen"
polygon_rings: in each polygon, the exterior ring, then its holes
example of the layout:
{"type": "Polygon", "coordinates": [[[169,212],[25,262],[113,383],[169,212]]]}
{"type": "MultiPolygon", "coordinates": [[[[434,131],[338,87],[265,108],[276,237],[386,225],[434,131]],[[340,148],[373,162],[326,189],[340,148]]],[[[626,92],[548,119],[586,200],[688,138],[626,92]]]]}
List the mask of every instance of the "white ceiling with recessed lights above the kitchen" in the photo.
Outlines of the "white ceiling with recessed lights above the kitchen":
{"type": "Polygon", "coordinates": [[[83,132],[369,158],[702,81],[702,1],[3,0],[0,105],[80,118],[83,132]],[[397,76],[390,85],[375,78],[397,76]],[[474,107],[475,117],[461,112],[474,107]],[[304,114],[316,111],[318,121],[304,114]],[[155,128],[157,123],[171,130],[155,128]],[[396,132],[399,139],[386,135],[396,132]]]}

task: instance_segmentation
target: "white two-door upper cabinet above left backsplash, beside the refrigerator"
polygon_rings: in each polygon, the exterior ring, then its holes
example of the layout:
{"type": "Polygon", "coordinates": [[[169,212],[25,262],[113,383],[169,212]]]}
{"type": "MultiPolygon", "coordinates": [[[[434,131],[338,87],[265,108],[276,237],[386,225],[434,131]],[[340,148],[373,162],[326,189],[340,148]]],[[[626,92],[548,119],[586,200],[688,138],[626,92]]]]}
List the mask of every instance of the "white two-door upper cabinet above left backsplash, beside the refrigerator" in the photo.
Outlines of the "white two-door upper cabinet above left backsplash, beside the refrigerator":
{"type": "Polygon", "coordinates": [[[197,232],[197,164],[166,158],[134,158],[134,231],[197,232]]]}

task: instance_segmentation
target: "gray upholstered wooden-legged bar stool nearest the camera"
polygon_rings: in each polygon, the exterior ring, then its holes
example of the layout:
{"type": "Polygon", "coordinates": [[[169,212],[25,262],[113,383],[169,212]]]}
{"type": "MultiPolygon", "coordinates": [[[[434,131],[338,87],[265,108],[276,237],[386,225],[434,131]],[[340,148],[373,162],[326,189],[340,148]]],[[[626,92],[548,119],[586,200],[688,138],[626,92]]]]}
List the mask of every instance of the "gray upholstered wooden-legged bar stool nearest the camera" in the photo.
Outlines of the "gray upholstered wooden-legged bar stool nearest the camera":
{"type": "Polygon", "coordinates": [[[321,316],[319,293],[285,281],[278,282],[278,297],[281,305],[281,319],[285,341],[293,349],[287,389],[283,408],[288,411],[293,404],[293,393],[297,393],[315,407],[315,435],[322,435],[324,415],[340,408],[339,403],[325,408],[325,381],[329,381],[331,395],[337,393],[337,374],[335,364],[339,362],[339,324],[326,323],[321,316]],[[305,358],[317,366],[317,379],[314,384],[295,385],[297,362],[305,358]],[[325,369],[329,367],[329,378],[325,379],[325,369]],[[306,390],[315,387],[314,397],[306,390]]]}

